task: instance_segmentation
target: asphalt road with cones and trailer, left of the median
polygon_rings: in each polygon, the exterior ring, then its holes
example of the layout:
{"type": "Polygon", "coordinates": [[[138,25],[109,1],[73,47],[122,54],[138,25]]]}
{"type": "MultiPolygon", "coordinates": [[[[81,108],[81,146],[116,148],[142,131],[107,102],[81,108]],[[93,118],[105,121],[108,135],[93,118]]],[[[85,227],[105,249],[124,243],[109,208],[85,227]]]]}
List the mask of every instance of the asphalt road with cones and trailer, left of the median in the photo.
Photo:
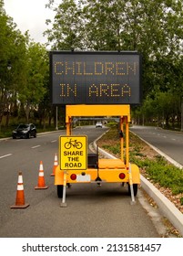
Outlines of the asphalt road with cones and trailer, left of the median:
{"type": "MultiPolygon", "coordinates": [[[[88,143],[106,131],[95,126],[77,128],[88,143]]],[[[127,187],[119,184],[77,184],[66,189],[66,208],[60,208],[54,177],[50,176],[64,131],[38,134],[29,140],[0,141],[0,237],[5,238],[157,238],[152,219],[139,203],[131,205],[127,187]],[[35,190],[40,161],[47,189],[35,190]],[[15,204],[18,172],[22,171],[25,209],[15,204]]]]}

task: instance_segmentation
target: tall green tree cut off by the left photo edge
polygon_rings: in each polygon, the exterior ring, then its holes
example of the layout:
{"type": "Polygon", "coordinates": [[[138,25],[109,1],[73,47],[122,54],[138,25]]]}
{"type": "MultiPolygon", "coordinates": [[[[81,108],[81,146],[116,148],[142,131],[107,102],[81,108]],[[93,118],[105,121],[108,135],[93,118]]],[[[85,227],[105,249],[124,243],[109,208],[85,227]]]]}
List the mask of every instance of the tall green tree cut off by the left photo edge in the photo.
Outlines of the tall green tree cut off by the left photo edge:
{"type": "Polygon", "coordinates": [[[16,91],[24,77],[26,37],[22,36],[13,19],[6,16],[0,2],[0,125],[4,113],[8,124],[9,113],[16,101],[16,91]]]}

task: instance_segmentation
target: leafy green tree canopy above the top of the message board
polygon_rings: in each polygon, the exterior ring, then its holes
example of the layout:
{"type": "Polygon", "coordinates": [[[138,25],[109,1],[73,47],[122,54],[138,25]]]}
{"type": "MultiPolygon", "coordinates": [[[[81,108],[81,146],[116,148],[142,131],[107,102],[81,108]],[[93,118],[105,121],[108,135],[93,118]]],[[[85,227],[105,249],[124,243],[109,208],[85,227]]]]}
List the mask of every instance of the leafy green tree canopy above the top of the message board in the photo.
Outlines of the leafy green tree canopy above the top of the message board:
{"type": "Polygon", "coordinates": [[[181,42],[181,1],[49,2],[47,6],[54,9],[56,16],[46,35],[57,49],[138,50],[146,62],[168,50],[177,51],[181,42]]]}

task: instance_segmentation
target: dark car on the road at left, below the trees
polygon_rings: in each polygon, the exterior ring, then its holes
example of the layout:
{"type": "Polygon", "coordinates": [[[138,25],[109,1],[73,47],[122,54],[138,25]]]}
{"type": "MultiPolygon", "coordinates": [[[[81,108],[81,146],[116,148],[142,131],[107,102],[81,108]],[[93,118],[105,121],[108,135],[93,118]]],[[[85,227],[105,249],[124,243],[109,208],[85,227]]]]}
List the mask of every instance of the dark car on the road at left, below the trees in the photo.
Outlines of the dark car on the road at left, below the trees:
{"type": "Polygon", "coordinates": [[[12,132],[13,139],[29,139],[31,136],[36,138],[36,126],[33,123],[20,123],[18,127],[12,132]]]}

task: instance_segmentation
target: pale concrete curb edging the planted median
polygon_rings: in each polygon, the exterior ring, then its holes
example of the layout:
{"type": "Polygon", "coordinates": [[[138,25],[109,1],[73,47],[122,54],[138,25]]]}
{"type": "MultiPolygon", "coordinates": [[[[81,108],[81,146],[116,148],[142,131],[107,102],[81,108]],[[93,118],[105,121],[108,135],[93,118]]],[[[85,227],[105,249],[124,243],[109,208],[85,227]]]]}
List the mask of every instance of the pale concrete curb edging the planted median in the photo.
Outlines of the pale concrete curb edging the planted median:
{"type": "MultiPolygon", "coordinates": [[[[100,136],[101,137],[101,136],[100,136]]],[[[98,137],[97,140],[100,138],[98,137]]],[[[140,138],[141,139],[141,138],[140,138]]],[[[95,150],[97,150],[97,140],[93,143],[95,150]]],[[[144,141],[147,143],[146,141],[144,141]]],[[[151,146],[150,144],[148,144],[151,146]]],[[[153,147],[154,148],[154,147],[153,147]]],[[[155,148],[154,148],[155,149],[155,148]]],[[[98,147],[98,152],[103,155],[106,155],[108,158],[117,159],[114,155],[108,154],[105,150],[98,147]]],[[[158,150],[158,154],[160,151],[158,150]]],[[[165,156],[161,152],[161,155],[165,156]]],[[[170,157],[168,157],[168,161],[170,157]]],[[[171,163],[175,163],[173,159],[171,159],[171,163]]],[[[179,165],[179,164],[178,164],[179,165]]],[[[175,207],[173,203],[171,203],[167,197],[160,193],[157,187],[153,186],[144,176],[140,176],[141,187],[147,192],[147,194],[152,197],[160,210],[160,212],[168,218],[168,220],[173,224],[173,226],[178,229],[181,236],[183,236],[183,214],[175,207]]]]}

